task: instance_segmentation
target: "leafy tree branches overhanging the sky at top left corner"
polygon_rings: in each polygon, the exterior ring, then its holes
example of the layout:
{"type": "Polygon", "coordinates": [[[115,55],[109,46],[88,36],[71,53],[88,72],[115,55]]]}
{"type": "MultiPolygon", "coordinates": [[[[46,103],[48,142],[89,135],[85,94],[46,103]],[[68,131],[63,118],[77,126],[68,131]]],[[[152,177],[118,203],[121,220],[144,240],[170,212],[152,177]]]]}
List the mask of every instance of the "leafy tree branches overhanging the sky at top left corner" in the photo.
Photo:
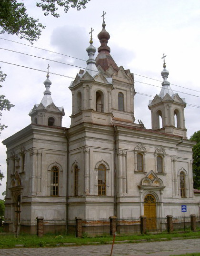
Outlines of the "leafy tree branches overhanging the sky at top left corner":
{"type": "MultiPolygon", "coordinates": [[[[36,6],[42,8],[44,15],[49,13],[58,18],[58,7],[62,7],[67,12],[70,7],[80,10],[86,8],[90,0],[38,0],[36,6]]],[[[37,41],[41,35],[41,29],[44,29],[38,19],[34,19],[27,14],[23,0],[0,0],[0,34],[17,35],[21,39],[26,39],[32,44],[37,41]]]]}

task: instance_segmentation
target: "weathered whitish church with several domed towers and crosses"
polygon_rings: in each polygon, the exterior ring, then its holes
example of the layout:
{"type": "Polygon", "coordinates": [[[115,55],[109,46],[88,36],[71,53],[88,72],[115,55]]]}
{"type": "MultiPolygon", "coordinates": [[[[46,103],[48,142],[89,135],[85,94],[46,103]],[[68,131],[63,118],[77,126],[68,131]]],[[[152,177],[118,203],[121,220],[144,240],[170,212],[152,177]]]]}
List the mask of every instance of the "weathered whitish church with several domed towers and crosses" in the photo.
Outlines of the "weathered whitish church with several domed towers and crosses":
{"type": "Polygon", "coordinates": [[[162,89],[149,102],[152,129],[135,123],[134,76],[112,59],[105,26],[96,59],[91,38],[87,67],[70,84],[70,128],[62,127],[65,113],[53,103],[48,73],[31,124],[3,141],[7,220],[16,207],[23,219],[179,216],[181,205],[187,215],[200,214],[185,100],[171,90],[164,61],[162,89]]]}

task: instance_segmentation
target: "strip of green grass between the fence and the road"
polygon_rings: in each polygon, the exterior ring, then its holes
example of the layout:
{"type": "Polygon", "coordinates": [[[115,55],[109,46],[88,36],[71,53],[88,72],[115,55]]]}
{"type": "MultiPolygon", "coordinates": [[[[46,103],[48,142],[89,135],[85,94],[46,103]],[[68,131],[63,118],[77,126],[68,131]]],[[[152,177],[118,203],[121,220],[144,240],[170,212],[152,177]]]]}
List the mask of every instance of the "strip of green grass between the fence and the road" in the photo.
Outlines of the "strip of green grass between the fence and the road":
{"type": "MultiPolygon", "coordinates": [[[[115,237],[115,242],[125,241],[126,243],[139,243],[142,241],[160,241],[162,239],[171,240],[175,237],[179,238],[200,238],[200,231],[197,232],[185,232],[185,233],[161,233],[161,234],[147,234],[147,235],[132,235],[115,237]]],[[[11,236],[0,237],[0,248],[13,248],[16,245],[23,245],[24,247],[55,247],[55,246],[67,246],[67,245],[90,245],[93,243],[108,244],[113,240],[112,236],[96,236],[84,238],[75,238],[70,236],[20,236],[18,238],[11,236]]],[[[191,254],[192,255],[192,254],[191,254]]],[[[195,255],[196,256],[196,255],[195,255]]]]}

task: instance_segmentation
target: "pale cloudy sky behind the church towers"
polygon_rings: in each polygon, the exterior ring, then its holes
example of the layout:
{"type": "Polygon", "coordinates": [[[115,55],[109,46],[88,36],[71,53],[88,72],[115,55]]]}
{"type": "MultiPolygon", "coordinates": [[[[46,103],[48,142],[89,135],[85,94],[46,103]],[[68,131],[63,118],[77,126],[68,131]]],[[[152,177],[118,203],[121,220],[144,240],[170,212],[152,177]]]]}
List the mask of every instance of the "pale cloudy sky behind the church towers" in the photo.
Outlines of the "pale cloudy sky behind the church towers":
{"type": "MultiPolygon", "coordinates": [[[[18,36],[0,35],[0,66],[7,74],[0,94],[6,95],[15,105],[9,112],[2,111],[0,123],[8,125],[8,128],[1,132],[0,142],[30,124],[28,114],[35,103],[41,102],[45,91],[43,82],[48,64],[51,97],[56,106],[64,107],[62,126],[70,126],[70,82],[80,69],[86,67],[91,27],[94,29],[93,46],[96,49],[100,46],[97,35],[102,29],[103,11],[106,12],[106,30],[110,33],[110,54],[118,66],[134,73],[137,92],[135,122],[138,123],[139,119],[147,129],[151,128],[148,104],[161,90],[161,57],[164,53],[171,89],[185,98],[187,103],[185,120],[188,138],[200,130],[199,0],[90,0],[84,10],[70,9],[64,13],[60,9],[60,18],[44,16],[42,10],[36,7],[36,2],[24,0],[30,16],[38,18],[46,26],[33,47],[18,36]]],[[[6,176],[6,146],[2,143],[0,165],[1,172],[6,176]]],[[[1,194],[6,190],[6,178],[1,183],[0,198],[3,198],[1,194]]]]}

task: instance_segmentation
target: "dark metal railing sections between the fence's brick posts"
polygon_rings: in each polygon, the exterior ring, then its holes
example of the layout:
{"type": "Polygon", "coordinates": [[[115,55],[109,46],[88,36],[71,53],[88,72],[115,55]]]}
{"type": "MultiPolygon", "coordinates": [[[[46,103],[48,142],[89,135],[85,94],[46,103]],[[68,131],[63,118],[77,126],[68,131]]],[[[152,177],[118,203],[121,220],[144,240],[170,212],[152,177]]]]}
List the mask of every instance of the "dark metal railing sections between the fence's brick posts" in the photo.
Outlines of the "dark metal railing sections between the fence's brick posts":
{"type": "MultiPolygon", "coordinates": [[[[173,217],[173,230],[190,230],[190,217],[173,217]]],[[[82,219],[82,236],[102,236],[110,235],[110,219],[92,218],[82,219]]],[[[200,216],[196,216],[196,227],[200,230],[200,216]]],[[[167,218],[146,218],[146,232],[160,233],[167,232],[167,218]]],[[[75,237],[76,220],[66,219],[45,219],[43,221],[44,236],[66,235],[75,237]]],[[[140,218],[119,218],[116,219],[116,231],[121,235],[140,234],[140,218]]],[[[8,220],[0,226],[0,236],[37,236],[37,219],[35,220],[8,220]]]]}

